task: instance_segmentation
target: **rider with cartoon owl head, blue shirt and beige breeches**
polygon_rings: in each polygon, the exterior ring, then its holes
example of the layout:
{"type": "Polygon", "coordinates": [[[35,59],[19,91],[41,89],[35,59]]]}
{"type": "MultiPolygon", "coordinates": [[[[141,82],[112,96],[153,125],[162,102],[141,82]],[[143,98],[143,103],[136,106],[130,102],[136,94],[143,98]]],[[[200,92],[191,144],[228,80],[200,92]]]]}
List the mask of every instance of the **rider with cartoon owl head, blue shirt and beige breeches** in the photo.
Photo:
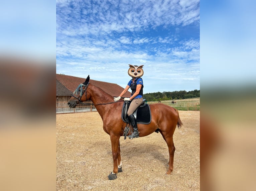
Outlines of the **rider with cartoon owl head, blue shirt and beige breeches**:
{"type": "Polygon", "coordinates": [[[123,90],[123,92],[118,96],[114,98],[114,101],[118,101],[121,99],[121,97],[131,88],[132,94],[131,97],[125,97],[125,101],[131,101],[131,104],[129,106],[129,109],[127,111],[128,118],[133,126],[133,134],[128,135],[129,138],[137,138],[139,137],[138,127],[137,127],[137,121],[133,115],[133,112],[140,106],[140,104],[143,101],[143,81],[140,78],[143,76],[144,72],[141,66],[137,65],[130,65],[130,68],[128,70],[128,75],[132,77],[132,79],[128,82],[126,88],[123,90]]]}

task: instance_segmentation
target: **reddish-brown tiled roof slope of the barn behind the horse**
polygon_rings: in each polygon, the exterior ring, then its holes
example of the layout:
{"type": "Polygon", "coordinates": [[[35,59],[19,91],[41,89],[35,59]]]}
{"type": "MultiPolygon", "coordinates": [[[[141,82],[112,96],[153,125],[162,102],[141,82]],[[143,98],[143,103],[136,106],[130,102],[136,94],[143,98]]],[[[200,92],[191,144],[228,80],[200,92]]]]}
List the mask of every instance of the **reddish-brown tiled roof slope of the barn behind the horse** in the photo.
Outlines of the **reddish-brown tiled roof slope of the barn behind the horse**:
{"type": "MultiPolygon", "coordinates": [[[[86,78],[79,78],[74,76],[67,76],[62,74],[56,74],[56,93],[57,93],[57,81],[65,86],[72,93],[76,90],[79,84],[85,82],[86,78]]],[[[96,80],[90,80],[90,83],[94,86],[101,88],[104,92],[112,95],[113,97],[117,97],[124,90],[121,86],[108,82],[101,82],[96,80]]],[[[130,97],[131,92],[126,92],[123,97],[130,97]]]]}

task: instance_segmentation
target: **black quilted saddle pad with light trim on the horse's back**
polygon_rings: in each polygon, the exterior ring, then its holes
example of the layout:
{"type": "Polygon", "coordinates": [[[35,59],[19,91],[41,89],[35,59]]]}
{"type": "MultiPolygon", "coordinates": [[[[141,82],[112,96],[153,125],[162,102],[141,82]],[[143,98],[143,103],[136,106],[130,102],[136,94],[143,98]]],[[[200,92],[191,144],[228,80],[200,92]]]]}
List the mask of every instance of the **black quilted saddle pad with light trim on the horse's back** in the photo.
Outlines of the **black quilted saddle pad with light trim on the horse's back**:
{"type": "MultiPolygon", "coordinates": [[[[129,120],[127,120],[127,118],[128,118],[127,113],[126,113],[127,111],[124,112],[124,108],[125,108],[125,103],[124,103],[123,109],[122,109],[122,120],[124,122],[130,123],[129,120]]],[[[151,111],[150,111],[150,107],[147,103],[145,103],[145,106],[143,106],[143,107],[138,107],[138,109],[135,110],[133,114],[137,120],[137,124],[138,123],[149,124],[151,122],[151,111]]]]}

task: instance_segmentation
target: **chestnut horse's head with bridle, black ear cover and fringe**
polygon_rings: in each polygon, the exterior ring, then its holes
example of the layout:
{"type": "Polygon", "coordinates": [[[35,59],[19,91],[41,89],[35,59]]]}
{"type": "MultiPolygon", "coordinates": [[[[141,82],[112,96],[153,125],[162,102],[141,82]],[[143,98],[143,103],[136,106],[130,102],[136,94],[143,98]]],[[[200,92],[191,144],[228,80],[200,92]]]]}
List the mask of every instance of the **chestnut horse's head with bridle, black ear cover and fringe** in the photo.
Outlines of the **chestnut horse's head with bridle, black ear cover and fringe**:
{"type": "Polygon", "coordinates": [[[87,101],[90,99],[90,95],[87,94],[87,87],[89,86],[90,76],[86,78],[85,82],[83,84],[80,84],[73,95],[70,97],[68,101],[68,105],[70,108],[75,108],[78,104],[80,104],[83,101],[87,101]]]}

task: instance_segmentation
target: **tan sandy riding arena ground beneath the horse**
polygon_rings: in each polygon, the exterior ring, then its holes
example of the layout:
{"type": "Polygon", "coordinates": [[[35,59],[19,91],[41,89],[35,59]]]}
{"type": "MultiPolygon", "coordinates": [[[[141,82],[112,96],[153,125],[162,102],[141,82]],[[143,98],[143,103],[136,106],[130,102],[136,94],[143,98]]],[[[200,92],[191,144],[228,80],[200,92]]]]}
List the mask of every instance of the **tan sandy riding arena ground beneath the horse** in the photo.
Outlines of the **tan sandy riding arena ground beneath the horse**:
{"type": "Polygon", "coordinates": [[[56,191],[200,190],[200,111],[179,111],[173,172],[166,175],[168,147],[160,133],[120,137],[123,172],[113,171],[110,136],[98,112],[56,114],[56,191]]]}

